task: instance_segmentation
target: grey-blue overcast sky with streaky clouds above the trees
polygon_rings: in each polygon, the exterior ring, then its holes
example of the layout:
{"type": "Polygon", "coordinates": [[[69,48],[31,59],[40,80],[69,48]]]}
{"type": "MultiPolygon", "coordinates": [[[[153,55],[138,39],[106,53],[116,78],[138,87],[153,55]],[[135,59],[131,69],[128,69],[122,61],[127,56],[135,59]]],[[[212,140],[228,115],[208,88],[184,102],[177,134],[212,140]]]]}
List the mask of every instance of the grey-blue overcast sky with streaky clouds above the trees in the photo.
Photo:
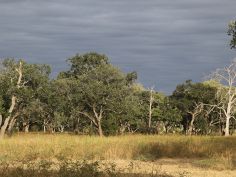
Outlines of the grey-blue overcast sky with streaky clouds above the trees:
{"type": "Polygon", "coordinates": [[[236,57],[236,0],[0,0],[0,58],[51,65],[96,51],[145,87],[170,94],[236,57]]]}

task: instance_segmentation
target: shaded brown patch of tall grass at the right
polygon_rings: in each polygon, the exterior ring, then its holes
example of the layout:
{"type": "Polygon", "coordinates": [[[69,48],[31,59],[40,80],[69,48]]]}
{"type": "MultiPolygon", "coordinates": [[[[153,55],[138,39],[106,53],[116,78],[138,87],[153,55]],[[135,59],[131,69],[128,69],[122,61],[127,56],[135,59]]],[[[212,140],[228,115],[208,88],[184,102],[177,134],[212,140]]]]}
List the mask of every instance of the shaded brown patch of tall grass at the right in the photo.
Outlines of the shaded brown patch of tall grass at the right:
{"type": "Polygon", "coordinates": [[[165,143],[149,143],[143,146],[135,159],[158,160],[160,158],[192,159],[192,165],[202,168],[236,169],[235,139],[187,139],[165,143]]]}

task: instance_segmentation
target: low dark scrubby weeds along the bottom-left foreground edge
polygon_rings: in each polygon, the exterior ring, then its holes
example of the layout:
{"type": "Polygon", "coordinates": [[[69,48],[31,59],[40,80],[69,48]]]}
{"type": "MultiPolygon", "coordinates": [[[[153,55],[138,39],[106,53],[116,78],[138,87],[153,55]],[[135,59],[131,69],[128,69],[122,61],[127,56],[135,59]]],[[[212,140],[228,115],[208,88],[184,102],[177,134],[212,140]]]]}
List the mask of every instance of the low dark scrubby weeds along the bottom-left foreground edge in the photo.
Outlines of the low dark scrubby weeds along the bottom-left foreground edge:
{"type": "Polygon", "coordinates": [[[2,163],[0,176],[4,177],[172,177],[159,172],[135,173],[132,167],[128,170],[116,169],[114,164],[101,164],[87,161],[61,161],[55,164],[52,161],[39,161],[10,166],[2,163]]]}

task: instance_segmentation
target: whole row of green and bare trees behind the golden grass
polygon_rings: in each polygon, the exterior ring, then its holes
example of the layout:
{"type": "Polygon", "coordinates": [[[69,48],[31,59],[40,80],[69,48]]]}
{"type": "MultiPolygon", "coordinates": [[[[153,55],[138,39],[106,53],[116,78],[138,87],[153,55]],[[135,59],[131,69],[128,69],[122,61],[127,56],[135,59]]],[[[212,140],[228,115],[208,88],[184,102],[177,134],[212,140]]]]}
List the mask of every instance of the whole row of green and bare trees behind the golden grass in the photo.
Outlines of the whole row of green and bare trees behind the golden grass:
{"type": "MultiPolygon", "coordinates": [[[[229,24],[236,48],[236,22],[229,24]]],[[[4,59],[0,65],[0,138],[23,131],[118,135],[221,134],[236,130],[236,62],[209,79],[177,85],[170,96],[146,89],[96,52],[69,58],[50,78],[46,64],[4,59]]]]}

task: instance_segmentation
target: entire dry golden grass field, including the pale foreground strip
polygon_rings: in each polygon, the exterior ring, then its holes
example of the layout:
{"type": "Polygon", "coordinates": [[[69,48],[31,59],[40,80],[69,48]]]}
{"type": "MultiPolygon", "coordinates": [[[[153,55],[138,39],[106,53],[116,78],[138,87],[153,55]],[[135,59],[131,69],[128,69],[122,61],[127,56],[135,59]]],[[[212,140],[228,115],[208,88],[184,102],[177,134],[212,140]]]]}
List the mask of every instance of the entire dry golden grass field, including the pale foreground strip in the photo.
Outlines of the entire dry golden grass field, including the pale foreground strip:
{"type": "Polygon", "coordinates": [[[0,176],[9,177],[19,170],[76,176],[73,169],[77,176],[236,176],[236,137],[16,134],[0,141],[0,162],[0,176]]]}

